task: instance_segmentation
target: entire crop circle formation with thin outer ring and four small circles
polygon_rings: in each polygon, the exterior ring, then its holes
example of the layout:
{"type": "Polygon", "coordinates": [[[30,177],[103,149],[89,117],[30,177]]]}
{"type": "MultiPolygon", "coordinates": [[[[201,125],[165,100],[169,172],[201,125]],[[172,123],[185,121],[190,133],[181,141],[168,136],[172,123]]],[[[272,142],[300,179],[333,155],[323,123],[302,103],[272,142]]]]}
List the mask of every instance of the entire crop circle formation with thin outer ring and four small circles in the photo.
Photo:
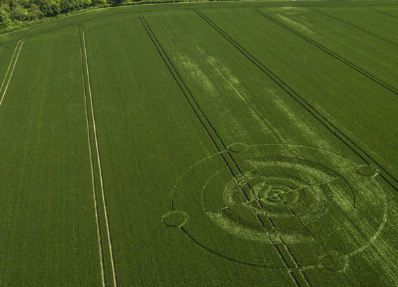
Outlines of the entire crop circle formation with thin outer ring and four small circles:
{"type": "Polygon", "coordinates": [[[338,272],[386,223],[377,174],[322,149],[234,144],[181,176],[163,223],[224,259],[338,272]]]}

